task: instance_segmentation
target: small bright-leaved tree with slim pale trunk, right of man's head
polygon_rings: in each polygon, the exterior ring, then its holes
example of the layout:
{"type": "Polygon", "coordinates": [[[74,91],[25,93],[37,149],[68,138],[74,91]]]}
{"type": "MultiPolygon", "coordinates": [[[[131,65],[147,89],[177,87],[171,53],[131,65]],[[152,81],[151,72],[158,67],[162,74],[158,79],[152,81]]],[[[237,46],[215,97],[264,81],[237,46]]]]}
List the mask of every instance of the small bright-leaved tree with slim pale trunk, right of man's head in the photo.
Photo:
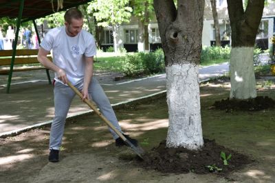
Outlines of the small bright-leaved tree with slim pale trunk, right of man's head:
{"type": "Polygon", "coordinates": [[[94,13],[98,25],[109,27],[113,30],[113,47],[118,51],[118,27],[123,22],[129,22],[132,8],[128,6],[129,0],[95,0],[88,6],[88,13],[94,13]]]}

